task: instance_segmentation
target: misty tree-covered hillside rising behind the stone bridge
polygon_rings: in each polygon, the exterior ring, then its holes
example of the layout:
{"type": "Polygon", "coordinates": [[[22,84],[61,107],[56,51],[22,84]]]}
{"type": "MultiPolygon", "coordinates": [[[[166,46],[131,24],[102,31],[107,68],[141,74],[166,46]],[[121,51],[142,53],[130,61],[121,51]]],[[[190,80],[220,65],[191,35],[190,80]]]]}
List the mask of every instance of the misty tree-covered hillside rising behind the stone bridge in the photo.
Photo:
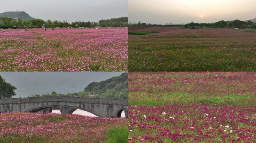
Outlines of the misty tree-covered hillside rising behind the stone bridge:
{"type": "Polygon", "coordinates": [[[123,73],[120,76],[112,77],[101,82],[90,83],[83,91],[78,93],[61,94],[53,91],[51,94],[34,94],[32,97],[45,96],[79,96],[94,98],[114,98],[114,99],[128,99],[128,73],[123,73]],[[89,95],[90,94],[90,95],[89,95]]]}

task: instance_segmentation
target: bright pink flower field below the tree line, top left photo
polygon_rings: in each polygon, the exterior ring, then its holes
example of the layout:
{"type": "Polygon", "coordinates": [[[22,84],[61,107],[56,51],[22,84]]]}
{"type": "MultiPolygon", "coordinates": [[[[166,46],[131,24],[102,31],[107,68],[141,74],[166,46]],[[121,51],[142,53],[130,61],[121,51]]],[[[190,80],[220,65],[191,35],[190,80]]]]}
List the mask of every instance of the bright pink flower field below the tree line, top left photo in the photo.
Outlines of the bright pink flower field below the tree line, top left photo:
{"type": "Polygon", "coordinates": [[[127,71],[128,29],[6,29],[0,71],[127,71]]]}

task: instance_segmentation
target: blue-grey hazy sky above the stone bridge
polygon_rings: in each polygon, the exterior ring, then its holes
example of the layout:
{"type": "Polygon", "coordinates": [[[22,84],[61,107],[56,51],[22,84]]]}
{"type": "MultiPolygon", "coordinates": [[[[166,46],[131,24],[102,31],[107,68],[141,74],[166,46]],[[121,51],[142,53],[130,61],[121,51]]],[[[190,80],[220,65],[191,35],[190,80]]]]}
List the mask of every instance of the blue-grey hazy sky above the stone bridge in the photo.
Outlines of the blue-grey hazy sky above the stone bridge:
{"type": "Polygon", "coordinates": [[[33,94],[74,93],[82,91],[89,83],[100,82],[124,72],[0,72],[7,83],[15,86],[16,96],[33,94]]]}

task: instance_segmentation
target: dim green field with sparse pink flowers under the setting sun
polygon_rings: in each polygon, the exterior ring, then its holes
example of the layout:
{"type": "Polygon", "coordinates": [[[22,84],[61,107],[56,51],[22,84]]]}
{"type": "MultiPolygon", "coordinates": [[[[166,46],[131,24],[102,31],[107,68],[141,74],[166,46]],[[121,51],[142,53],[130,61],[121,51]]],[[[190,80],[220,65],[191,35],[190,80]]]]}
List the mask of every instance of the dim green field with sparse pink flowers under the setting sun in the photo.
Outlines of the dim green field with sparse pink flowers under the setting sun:
{"type": "Polygon", "coordinates": [[[255,30],[150,27],[135,31],[156,29],[161,32],[129,34],[129,71],[256,71],[255,30]]]}

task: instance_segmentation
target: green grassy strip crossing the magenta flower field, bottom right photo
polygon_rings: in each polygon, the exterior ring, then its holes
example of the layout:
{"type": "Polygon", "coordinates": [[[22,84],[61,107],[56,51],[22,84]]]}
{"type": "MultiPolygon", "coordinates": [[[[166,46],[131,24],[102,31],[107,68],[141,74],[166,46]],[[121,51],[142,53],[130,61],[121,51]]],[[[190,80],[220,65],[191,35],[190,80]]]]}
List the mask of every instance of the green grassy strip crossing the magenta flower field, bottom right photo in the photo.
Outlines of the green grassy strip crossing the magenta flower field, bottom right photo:
{"type": "MultiPolygon", "coordinates": [[[[139,93],[138,93],[139,95],[139,93]]],[[[132,99],[129,95],[129,105],[135,106],[164,106],[168,104],[227,104],[227,105],[255,105],[250,95],[227,94],[224,96],[210,96],[208,93],[198,93],[194,95],[188,92],[167,92],[158,94],[149,94],[141,96],[141,99],[132,99]],[[154,95],[154,96],[153,96],[154,95]],[[155,99],[155,97],[158,97],[155,99]]]]}

